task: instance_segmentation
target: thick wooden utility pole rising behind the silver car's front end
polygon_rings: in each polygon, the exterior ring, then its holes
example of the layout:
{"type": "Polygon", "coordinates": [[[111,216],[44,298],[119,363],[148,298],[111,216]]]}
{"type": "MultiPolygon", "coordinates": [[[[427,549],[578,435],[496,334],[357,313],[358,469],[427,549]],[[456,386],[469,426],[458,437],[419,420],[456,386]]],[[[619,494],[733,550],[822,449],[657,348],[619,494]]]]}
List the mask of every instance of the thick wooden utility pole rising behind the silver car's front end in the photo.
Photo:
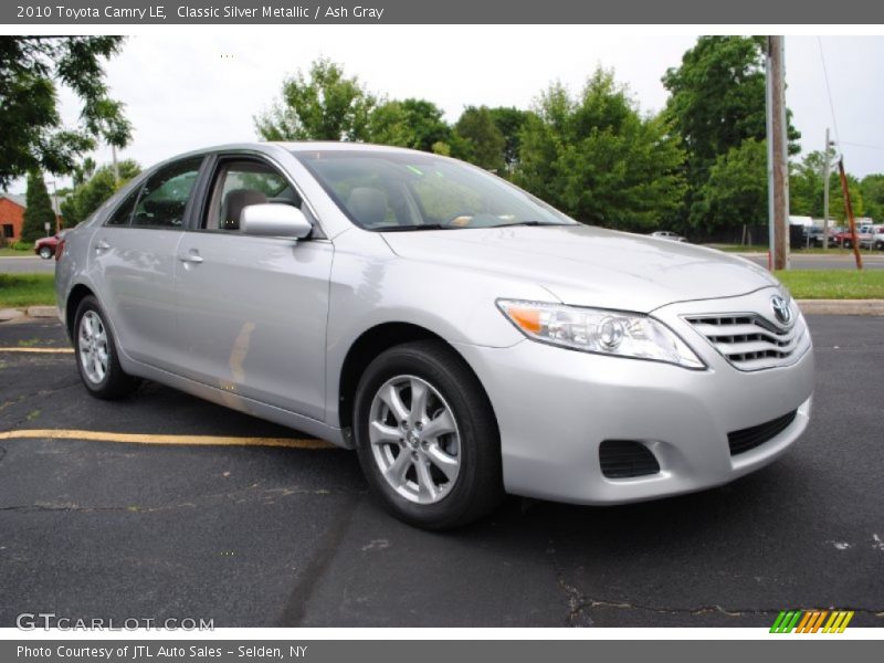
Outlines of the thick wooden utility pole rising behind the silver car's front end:
{"type": "Polygon", "coordinates": [[[789,162],[786,136],[783,38],[767,38],[768,223],[775,270],[789,269],[789,162]]]}

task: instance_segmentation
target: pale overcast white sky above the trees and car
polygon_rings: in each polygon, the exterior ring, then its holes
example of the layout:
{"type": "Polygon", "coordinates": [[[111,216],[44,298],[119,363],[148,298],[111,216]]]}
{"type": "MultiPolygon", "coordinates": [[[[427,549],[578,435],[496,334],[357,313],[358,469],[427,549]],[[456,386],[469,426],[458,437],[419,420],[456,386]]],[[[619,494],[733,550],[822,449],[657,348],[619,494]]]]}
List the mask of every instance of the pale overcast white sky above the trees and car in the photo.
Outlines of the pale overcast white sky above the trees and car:
{"type": "MultiPolygon", "coordinates": [[[[256,139],[253,117],[278,97],[286,76],[319,56],[376,94],[430,99],[454,122],[467,105],[530,107],[554,80],[577,91],[598,65],[614,70],[642,110],[660,110],[667,96],[661,76],[695,41],[592,25],[166,27],[129,36],[106,71],[135,127],[119,157],[147,167],[256,139]]],[[[786,76],[802,154],[821,150],[830,127],[850,172],[884,172],[884,36],[788,35],[786,76]]],[[[73,94],[62,91],[61,101],[63,117],[75,122],[73,94]]],[[[107,162],[109,149],[94,157],[107,162]]]]}

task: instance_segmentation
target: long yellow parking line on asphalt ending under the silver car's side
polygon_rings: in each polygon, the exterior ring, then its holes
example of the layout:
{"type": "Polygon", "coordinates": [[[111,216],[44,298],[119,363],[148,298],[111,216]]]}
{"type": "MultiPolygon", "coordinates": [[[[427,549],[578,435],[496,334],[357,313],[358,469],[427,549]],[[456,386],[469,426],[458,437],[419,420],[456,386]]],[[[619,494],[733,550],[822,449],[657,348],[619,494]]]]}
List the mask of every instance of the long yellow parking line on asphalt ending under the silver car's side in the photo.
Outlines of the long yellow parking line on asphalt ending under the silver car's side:
{"type": "Polygon", "coordinates": [[[285,446],[287,449],[335,449],[325,440],[313,438],[229,438],[224,435],[151,435],[64,429],[34,429],[0,432],[0,440],[90,440],[128,444],[179,444],[191,446],[285,446]]]}

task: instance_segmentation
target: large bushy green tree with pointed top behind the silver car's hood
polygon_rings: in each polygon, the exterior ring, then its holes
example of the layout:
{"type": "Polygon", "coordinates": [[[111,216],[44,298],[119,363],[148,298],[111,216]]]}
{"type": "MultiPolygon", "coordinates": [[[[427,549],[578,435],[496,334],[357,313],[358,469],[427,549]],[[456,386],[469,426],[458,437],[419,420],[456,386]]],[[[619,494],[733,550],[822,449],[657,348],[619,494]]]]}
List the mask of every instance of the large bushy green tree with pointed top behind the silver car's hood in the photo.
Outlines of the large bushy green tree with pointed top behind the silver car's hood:
{"type": "Polygon", "coordinates": [[[572,98],[552,84],[522,131],[516,183],[588,223],[652,230],[684,194],[684,152],[665,119],[644,116],[612,72],[572,98]]]}

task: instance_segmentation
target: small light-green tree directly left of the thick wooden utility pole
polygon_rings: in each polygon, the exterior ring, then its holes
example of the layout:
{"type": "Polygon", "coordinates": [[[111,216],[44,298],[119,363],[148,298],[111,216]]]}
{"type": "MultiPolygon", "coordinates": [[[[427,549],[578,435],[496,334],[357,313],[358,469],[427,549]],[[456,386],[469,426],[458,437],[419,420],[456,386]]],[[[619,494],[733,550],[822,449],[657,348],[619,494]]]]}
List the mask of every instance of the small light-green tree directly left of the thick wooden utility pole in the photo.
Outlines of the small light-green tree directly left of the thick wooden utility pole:
{"type": "Polygon", "coordinates": [[[767,222],[767,143],[747,138],[719,155],[691,209],[692,224],[704,232],[767,222]]]}

